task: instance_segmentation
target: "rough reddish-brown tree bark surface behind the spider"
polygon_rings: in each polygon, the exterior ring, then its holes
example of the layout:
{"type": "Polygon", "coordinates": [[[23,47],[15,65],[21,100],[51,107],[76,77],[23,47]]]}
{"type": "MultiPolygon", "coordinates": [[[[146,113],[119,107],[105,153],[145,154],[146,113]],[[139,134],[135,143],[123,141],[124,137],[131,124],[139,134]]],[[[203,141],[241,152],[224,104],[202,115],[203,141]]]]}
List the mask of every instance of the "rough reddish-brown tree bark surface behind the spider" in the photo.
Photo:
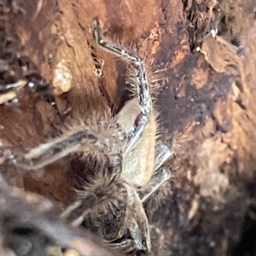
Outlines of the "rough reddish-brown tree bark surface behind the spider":
{"type": "MultiPolygon", "coordinates": [[[[1,147],[26,152],[69,119],[122,106],[125,67],[96,49],[90,24],[98,17],[107,38],[133,45],[145,58],[163,139],[172,137],[170,195],[157,212],[147,208],[165,235],[162,255],[255,255],[255,1],[17,3],[22,9],[3,14],[2,29],[20,38],[19,51],[51,86],[60,67],[72,80],[66,93],[55,88],[59,112],[29,90],[17,104],[1,105],[1,147]]],[[[72,199],[62,163],[30,173],[5,169],[12,185],[60,206],[72,199]]]]}

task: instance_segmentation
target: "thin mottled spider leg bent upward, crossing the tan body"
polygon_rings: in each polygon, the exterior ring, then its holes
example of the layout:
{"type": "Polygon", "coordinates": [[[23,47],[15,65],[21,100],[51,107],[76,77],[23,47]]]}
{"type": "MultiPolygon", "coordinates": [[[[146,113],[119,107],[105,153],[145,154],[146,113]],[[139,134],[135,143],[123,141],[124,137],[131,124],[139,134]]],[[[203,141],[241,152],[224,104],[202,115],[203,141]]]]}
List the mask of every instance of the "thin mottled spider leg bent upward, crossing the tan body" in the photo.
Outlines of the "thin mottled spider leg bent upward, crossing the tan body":
{"type": "Polygon", "coordinates": [[[129,143],[125,150],[125,154],[129,154],[135,148],[137,141],[142,137],[145,125],[148,124],[149,117],[152,113],[152,102],[148,88],[147,73],[144,62],[141,57],[135,55],[127,49],[121,49],[118,45],[108,43],[102,38],[101,28],[98,20],[92,22],[93,36],[96,44],[105,51],[118,56],[119,58],[128,61],[131,67],[134,68],[134,78],[137,86],[138,102],[141,108],[141,113],[137,115],[131,130],[128,132],[129,143]]]}

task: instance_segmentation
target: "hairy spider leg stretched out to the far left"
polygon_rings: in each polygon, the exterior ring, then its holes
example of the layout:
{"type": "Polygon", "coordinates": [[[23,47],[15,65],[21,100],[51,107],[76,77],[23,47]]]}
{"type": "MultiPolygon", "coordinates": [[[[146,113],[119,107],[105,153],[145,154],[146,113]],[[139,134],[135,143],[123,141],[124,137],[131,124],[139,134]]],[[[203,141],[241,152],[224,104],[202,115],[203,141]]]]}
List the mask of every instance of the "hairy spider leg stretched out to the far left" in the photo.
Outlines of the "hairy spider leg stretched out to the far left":
{"type": "Polygon", "coordinates": [[[123,134],[118,133],[118,138],[106,138],[103,135],[101,136],[101,134],[90,131],[90,128],[85,125],[76,130],[73,132],[68,131],[61,137],[49,141],[49,143],[41,144],[38,148],[33,148],[21,157],[7,153],[6,159],[22,169],[37,170],[56,160],[60,160],[67,156],[67,154],[78,152],[79,150],[84,151],[84,146],[88,145],[90,146],[88,154],[90,154],[90,149],[93,146],[108,157],[110,165],[119,166],[121,163],[121,152],[117,148],[121,147],[117,143],[123,142],[125,139],[123,134]]]}

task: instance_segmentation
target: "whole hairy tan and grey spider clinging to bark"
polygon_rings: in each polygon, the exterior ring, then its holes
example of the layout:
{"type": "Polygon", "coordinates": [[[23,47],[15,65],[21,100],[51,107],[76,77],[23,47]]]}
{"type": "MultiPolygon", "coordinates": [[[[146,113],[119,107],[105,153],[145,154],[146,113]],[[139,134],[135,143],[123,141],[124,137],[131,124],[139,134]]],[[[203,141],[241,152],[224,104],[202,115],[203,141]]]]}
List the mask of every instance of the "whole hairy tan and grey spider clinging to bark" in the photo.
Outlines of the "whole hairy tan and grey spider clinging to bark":
{"type": "Polygon", "coordinates": [[[73,226],[86,220],[94,224],[113,248],[149,252],[150,229],[143,202],[169,179],[170,172],[162,166],[172,151],[157,137],[158,123],[143,59],[105,41],[98,20],[93,20],[92,32],[99,48],[118,56],[133,71],[134,98],[115,116],[106,113],[105,119],[73,125],[61,137],[8,158],[15,166],[36,170],[77,155],[84,165],[84,176],[79,177],[76,200],[61,218],[73,226]]]}

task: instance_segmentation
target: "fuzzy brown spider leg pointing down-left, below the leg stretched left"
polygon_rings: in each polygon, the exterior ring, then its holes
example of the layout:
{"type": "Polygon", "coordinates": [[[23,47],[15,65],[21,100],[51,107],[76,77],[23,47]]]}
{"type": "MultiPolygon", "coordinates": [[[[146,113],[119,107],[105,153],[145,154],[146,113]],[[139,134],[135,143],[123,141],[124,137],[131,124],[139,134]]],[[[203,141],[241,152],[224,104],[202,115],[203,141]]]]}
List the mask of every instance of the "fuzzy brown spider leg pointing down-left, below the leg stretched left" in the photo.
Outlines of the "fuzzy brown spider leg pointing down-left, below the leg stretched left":
{"type": "Polygon", "coordinates": [[[84,183],[84,189],[78,189],[77,200],[62,212],[61,218],[66,219],[74,227],[83,223],[86,215],[98,212],[113,213],[119,210],[126,198],[126,186],[119,179],[118,172],[108,173],[102,170],[84,183]],[[79,215],[79,217],[77,217],[79,215]]]}

